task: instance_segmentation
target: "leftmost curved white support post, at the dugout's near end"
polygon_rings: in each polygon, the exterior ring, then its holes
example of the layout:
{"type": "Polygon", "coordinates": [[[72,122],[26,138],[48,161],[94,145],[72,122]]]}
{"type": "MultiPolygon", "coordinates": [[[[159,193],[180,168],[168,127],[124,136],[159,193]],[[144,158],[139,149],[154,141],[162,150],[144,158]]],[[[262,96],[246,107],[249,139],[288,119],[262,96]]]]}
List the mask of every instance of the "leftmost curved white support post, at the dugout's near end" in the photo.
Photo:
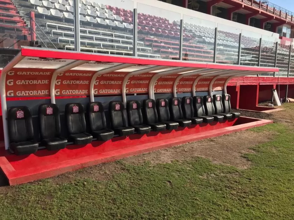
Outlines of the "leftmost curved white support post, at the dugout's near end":
{"type": "Polygon", "coordinates": [[[6,74],[10,71],[16,64],[18,64],[24,57],[22,53],[18,53],[12,61],[10,61],[1,71],[0,75],[0,91],[1,91],[1,109],[2,109],[2,121],[3,121],[3,133],[4,133],[4,143],[5,150],[9,147],[9,135],[8,135],[8,124],[7,124],[7,103],[6,103],[6,74]]]}

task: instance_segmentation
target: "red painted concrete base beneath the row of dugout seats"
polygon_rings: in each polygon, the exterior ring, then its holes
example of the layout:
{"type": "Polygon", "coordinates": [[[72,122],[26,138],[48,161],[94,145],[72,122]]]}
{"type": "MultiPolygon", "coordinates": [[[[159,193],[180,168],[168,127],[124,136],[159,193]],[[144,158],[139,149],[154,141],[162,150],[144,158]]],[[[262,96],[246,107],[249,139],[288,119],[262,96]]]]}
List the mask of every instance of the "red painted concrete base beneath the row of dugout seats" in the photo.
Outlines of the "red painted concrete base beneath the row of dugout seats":
{"type": "Polygon", "coordinates": [[[176,131],[151,132],[148,135],[134,134],[128,137],[116,137],[106,142],[94,141],[86,146],[68,145],[65,149],[59,151],[43,149],[28,156],[9,154],[2,147],[2,150],[0,150],[0,167],[6,175],[9,185],[16,185],[56,176],[86,166],[269,123],[272,123],[272,121],[240,117],[222,123],[202,123],[176,131]]]}

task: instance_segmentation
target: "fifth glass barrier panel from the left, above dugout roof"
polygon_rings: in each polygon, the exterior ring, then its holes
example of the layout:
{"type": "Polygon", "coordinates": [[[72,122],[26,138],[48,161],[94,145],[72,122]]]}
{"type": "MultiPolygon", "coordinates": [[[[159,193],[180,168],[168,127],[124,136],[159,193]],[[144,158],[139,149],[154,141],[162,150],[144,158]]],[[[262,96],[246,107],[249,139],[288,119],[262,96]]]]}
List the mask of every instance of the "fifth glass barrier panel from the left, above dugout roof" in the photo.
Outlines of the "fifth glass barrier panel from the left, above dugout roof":
{"type": "Polygon", "coordinates": [[[238,64],[239,28],[217,25],[216,63],[238,64]]]}

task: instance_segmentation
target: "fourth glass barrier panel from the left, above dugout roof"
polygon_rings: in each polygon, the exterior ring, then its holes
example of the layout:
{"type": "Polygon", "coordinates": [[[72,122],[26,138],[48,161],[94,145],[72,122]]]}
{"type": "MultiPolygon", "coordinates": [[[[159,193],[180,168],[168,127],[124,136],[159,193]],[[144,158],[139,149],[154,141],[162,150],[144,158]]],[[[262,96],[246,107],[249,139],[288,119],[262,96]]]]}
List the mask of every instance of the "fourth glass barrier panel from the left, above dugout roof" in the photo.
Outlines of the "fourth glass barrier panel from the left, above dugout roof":
{"type": "Polygon", "coordinates": [[[184,33],[182,60],[213,62],[215,22],[183,16],[184,33]],[[191,38],[187,36],[191,36],[191,38]]]}

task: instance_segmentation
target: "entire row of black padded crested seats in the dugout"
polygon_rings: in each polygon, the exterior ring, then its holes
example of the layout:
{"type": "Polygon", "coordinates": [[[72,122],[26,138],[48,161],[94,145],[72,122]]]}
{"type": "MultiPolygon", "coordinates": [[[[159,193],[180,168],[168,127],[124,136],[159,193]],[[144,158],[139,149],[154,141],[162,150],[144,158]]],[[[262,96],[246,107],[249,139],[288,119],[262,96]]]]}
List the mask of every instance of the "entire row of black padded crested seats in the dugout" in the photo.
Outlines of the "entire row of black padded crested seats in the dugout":
{"type": "Polygon", "coordinates": [[[174,130],[178,126],[189,127],[191,123],[220,122],[240,116],[239,113],[230,111],[229,94],[183,97],[182,100],[171,98],[170,101],[147,99],[143,100],[142,107],[140,101],[132,100],[127,102],[126,109],[121,101],[111,101],[111,129],[108,129],[103,103],[89,103],[87,111],[81,103],[68,103],[65,106],[68,132],[66,139],[61,136],[59,107],[56,104],[42,104],[38,109],[41,138],[38,143],[34,140],[31,110],[25,106],[12,107],[8,110],[9,147],[15,154],[23,155],[35,153],[39,146],[45,146],[48,150],[59,150],[70,143],[86,145],[93,140],[110,140],[114,135],[143,135],[151,130],[174,130]]]}

